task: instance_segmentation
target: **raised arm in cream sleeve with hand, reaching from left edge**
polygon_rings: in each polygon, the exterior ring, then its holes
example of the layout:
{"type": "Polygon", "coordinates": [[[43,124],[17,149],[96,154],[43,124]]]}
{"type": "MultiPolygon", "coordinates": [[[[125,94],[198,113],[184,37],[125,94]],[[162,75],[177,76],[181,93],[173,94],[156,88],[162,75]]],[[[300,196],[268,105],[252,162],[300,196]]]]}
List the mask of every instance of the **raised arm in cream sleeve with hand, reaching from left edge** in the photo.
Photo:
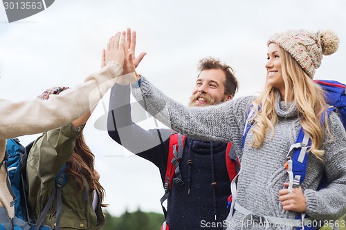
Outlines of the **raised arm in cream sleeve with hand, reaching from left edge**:
{"type": "Polygon", "coordinates": [[[120,39],[119,32],[109,41],[107,66],[87,77],[80,86],[54,95],[49,101],[33,99],[10,102],[0,99],[0,140],[41,133],[67,124],[90,111],[113,86],[116,77],[122,75],[124,48],[125,33],[120,39]]]}

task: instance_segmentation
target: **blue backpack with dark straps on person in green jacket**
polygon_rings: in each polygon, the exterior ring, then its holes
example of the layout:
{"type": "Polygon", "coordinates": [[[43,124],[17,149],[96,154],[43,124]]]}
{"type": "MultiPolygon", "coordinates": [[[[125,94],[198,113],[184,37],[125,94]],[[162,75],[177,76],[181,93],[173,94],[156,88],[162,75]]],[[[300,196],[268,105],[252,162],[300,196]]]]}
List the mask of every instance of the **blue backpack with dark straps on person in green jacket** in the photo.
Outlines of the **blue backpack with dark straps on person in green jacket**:
{"type": "Polygon", "coordinates": [[[55,189],[41,215],[36,220],[28,202],[28,184],[26,183],[26,160],[32,146],[33,142],[26,147],[22,146],[17,138],[7,140],[6,156],[0,166],[5,164],[8,170],[8,189],[13,197],[11,205],[15,206],[15,218],[10,220],[7,211],[1,208],[0,230],[51,230],[51,227],[42,225],[42,222],[55,198],[57,200],[57,226],[55,229],[59,229],[62,206],[61,190],[67,181],[67,173],[64,172],[65,165],[57,174],[55,178],[55,189]]]}

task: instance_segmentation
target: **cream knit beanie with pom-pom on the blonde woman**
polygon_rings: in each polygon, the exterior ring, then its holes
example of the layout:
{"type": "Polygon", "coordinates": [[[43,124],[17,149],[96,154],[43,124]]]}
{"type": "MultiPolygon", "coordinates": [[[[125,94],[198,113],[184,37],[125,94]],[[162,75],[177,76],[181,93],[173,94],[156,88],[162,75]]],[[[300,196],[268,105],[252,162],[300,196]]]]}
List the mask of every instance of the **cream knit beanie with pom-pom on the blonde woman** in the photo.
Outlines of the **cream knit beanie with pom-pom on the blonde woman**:
{"type": "Polygon", "coordinates": [[[331,55],[338,50],[339,38],[329,30],[288,30],[273,35],[267,45],[271,43],[289,52],[304,72],[313,78],[316,68],[320,67],[322,55],[331,55]]]}

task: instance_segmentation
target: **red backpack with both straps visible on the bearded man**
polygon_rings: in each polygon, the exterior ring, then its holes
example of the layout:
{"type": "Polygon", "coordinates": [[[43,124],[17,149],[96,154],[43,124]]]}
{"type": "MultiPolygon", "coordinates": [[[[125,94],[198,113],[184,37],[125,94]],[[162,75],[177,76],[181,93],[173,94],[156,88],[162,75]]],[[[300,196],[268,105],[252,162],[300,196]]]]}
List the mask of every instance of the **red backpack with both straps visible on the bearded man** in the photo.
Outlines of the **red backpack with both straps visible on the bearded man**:
{"type": "MultiPolygon", "coordinates": [[[[170,144],[168,149],[168,158],[167,158],[167,168],[165,173],[165,183],[163,184],[163,189],[165,189],[165,194],[161,198],[161,206],[163,209],[163,213],[167,214],[167,210],[163,207],[163,202],[167,200],[168,194],[172,190],[172,182],[177,184],[183,184],[183,180],[181,180],[181,172],[179,170],[179,162],[183,157],[183,150],[185,144],[185,135],[180,133],[176,133],[172,131],[170,135],[170,144]]],[[[192,162],[188,162],[191,164],[192,162]]],[[[228,177],[230,178],[230,182],[235,178],[235,176],[239,173],[240,163],[235,153],[235,149],[232,146],[232,143],[228,142],[226,148],[226,166],[228,177]]],[[[228,209],[230,206],[230,201],[232,200],[232,195],[228,198],[228,209]]],[[[161,230],[169,230],[170,227],[163,223],[161,230]]]]}

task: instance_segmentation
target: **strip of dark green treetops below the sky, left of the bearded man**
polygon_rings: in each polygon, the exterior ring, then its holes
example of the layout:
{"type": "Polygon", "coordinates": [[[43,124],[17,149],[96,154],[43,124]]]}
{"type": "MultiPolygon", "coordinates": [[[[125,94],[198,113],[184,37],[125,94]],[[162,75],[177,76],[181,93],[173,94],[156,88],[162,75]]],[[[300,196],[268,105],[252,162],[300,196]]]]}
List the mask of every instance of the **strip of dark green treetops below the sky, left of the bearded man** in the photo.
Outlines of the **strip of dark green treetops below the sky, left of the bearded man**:
{"type": "Polygon", "coordinates": [[[159,213],[145,213],[138,209],[134,213],[125,211],[120,217],[106,213],[106,224],[102,230],[153,230],[161,229],[165,217],[159,213]]]}

